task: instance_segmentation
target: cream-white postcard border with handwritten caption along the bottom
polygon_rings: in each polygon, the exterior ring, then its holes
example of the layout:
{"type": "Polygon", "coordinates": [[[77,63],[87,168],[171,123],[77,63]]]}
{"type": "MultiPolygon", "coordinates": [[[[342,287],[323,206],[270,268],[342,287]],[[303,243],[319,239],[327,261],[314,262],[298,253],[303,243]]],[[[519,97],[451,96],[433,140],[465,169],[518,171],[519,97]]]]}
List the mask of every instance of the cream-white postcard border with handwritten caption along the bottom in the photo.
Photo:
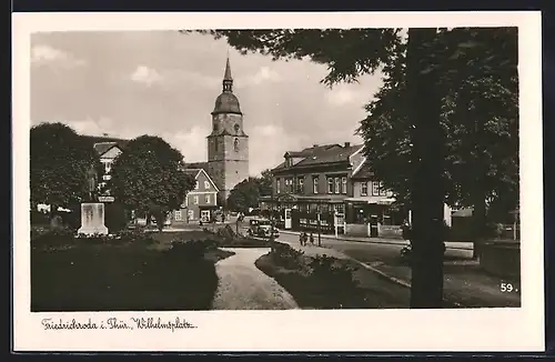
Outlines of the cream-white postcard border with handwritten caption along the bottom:
{"type": "MultiPolygon", "coordinates": [[[[13,325],[16,351],[542,351],[544,350],[539,12],[14,13],[13,325]],[[224,28],[519,27],[522,308],[476,310],[30,313],[30,34],[37,31],[224,28]],[[43,318],[148,314],[196,329],[44,331],[43,318]]],[[[83,84],[85,86],[85,84],[83,84]]],[[[68,291],[71,292],[71,291],[68,291]]]]}

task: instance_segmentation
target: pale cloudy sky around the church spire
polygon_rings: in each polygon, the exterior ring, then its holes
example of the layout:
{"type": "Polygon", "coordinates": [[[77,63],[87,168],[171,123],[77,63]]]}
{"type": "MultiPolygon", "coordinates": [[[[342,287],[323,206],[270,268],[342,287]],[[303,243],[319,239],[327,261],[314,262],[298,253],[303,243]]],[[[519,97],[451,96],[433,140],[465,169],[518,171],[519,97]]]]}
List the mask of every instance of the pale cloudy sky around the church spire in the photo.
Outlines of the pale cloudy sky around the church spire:
{"type": "Polygon", "coordinates": [[[381,76],[332,89],[325,66],[242,56],[224,39],[178,31],[49,32],[31,37],[31,125],[81,134],[159,135],[186,162],[205,161],[226,57],[249,134],[250,173],[312,144],[361,143],[363,109],[381,76]]]}

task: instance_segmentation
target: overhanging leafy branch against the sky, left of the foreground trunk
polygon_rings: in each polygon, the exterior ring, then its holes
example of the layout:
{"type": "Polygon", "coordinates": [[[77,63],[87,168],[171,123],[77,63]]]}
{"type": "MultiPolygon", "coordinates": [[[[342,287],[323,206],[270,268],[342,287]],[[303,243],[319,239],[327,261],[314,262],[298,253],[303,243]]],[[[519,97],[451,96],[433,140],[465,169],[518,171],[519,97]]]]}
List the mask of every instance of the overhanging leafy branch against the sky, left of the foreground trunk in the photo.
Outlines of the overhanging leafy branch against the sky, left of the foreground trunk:
{"type": "MultiPolygon", "coordinates": [[[[182,31],[189,32],[189,31],[182,31]]],[[[241,53],[258,52],[272,59],[310,59],[327,66],[322,80],[332,87],[356,82],[389,63],[401,41],[401,29],[272,29],[201,31],[226,38],[241,53]]]]}

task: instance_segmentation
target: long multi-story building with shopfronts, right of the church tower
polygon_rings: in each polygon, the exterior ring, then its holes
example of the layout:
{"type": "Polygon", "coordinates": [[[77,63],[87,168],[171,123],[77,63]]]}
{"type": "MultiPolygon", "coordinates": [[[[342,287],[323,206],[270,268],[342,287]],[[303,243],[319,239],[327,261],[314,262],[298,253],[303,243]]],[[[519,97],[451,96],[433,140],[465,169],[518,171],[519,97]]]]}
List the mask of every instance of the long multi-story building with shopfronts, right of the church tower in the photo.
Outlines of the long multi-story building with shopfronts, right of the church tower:
{"type": "Polygon", "coordinates": [[[284,154],[272,170],[271,197],[261,209],[272,210],[286,229],[377,235],[379,225],[392,224],[390,192],[375,180],[362,153],[363,145],[314,144],[284,154]]]}

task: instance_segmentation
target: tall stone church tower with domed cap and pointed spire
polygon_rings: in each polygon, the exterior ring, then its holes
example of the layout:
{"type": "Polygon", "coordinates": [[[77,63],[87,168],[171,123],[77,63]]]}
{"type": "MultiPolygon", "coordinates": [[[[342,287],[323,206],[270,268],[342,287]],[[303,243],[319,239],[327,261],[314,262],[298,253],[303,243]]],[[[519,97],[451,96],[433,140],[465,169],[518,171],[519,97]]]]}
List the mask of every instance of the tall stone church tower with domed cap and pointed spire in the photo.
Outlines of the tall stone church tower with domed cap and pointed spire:
{"type": "Polygon", "coordinates": [[[212,111],[212,133],[206,137],[208,167],[220,198],[228,200],[231,190],[249,178],[249,135],[243,131],[243,113],[233,94],[229,57],[222,84],[212,111]]]}

